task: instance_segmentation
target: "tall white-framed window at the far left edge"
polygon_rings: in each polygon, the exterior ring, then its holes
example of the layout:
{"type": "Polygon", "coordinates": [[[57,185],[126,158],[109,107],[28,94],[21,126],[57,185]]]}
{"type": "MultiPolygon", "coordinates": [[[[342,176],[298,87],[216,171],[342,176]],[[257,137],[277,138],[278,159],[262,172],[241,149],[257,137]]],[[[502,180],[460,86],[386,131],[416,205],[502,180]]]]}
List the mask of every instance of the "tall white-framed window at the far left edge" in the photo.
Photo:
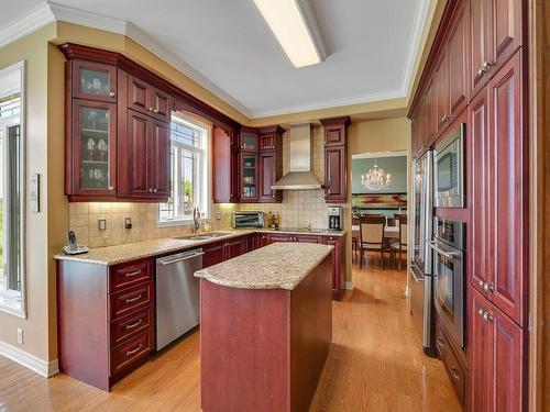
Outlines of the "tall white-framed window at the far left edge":
{"type": "Polygon", "coordinates": [[[0,308],[25,316],[24,62],[0,70],[0,308]]]}

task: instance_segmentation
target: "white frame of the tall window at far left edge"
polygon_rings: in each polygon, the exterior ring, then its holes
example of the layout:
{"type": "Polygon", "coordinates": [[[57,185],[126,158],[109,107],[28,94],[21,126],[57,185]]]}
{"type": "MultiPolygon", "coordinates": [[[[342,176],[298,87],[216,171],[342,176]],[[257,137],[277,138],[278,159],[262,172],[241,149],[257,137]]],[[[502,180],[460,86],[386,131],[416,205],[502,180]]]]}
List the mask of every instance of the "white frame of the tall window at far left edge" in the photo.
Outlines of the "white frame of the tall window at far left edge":
{"type": "MultiPolygon", "coordinates": [[[[20,107],[20,147],[21,157],[19,163],[19,175],[20,175],[20,199],[19,199],[19,230],[20,230],[20,261],[21,261],[21,272],[20,272],[20,297],[21,303],[19,308],[14,308],[12,304],[7,304],[0,300],[0,311],[7,312],[18,318],[28,319],[28,291],[26,291],[26,60],[18,62],[11,66],[8,66],[0,70],[0,76],[4,76],[11,71],[20,71],[20,96],[21,96],[21,107],[20,107]]],[[[8,129],[8,127],[7,127],[8,129]]],[[[4,145],[6,147],[6,145],[4,145]]],[[[8,177],[4,176],[4,179],[8,177]]],[[[7,207],[4,205],[4,210],[7,207]]],[[[8,219],[4,216],[4,219],[8,219]]],[[[6,234],[4,234],[6,235],[6,234]]],[[[13,247],[14,245],[12,245],[13,247]]],[[[7,243],[4,244],[7,247],[7,243]]],[[[12,289],[9,289],[12,290],[12,289]]]]}

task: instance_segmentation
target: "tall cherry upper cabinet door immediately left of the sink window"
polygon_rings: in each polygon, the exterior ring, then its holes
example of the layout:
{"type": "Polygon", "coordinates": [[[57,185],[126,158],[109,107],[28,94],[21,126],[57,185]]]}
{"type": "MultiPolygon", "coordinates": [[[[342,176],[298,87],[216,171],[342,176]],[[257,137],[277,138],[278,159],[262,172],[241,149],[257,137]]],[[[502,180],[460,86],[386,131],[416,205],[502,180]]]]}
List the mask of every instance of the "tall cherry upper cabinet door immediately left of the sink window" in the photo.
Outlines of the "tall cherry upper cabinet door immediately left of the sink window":
{"type": "Polygon", "coordinates": [[[150,165],[148,181],[153,189],[152,197],[167,199],[170,192],[170,155],[169,123],[158,120],[151,121],[152,131],[148,138],[147,164],[150,165]]]}

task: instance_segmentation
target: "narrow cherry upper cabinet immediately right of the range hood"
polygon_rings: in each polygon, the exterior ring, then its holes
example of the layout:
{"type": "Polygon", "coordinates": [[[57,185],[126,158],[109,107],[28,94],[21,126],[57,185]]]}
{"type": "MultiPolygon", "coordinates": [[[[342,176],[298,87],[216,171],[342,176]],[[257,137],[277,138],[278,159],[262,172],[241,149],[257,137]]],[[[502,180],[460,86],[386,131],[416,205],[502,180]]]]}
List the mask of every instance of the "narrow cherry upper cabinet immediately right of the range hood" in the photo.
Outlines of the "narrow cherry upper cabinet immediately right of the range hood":
{"type": "Polygon", "coordinates": [[[348,201],[348,126],[350,118],[320,119],[324,127],[324,200],[348,201]]]}

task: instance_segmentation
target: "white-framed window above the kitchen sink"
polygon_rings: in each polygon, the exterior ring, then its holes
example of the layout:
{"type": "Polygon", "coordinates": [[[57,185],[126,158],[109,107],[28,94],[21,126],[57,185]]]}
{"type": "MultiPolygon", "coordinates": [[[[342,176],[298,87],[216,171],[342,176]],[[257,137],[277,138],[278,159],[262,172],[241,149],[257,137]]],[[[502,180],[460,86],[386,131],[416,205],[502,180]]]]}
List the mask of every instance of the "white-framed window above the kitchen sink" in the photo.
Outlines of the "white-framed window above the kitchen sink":
{"type": "Polygon", "coordinates": [[[209,130],[195,121],[172,115],[170,197],[158,205],[161,224],[182,224],[193,220],[198,207],[201,218],[210,215],[209,130]]]}

